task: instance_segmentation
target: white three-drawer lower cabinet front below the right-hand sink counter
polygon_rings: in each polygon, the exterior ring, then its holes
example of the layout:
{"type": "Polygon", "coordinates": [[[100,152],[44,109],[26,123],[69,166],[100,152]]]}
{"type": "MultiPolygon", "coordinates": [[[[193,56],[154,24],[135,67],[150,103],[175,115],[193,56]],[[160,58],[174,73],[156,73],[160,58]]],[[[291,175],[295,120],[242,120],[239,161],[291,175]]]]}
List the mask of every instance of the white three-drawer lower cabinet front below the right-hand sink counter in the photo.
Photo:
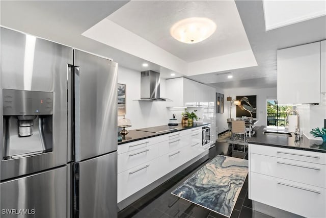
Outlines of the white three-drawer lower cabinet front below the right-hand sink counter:
{"type": "Polygon", "coordinates": [[[306,217],[326,217],[326,154],[249,144],[249,198],[306,217]]]}

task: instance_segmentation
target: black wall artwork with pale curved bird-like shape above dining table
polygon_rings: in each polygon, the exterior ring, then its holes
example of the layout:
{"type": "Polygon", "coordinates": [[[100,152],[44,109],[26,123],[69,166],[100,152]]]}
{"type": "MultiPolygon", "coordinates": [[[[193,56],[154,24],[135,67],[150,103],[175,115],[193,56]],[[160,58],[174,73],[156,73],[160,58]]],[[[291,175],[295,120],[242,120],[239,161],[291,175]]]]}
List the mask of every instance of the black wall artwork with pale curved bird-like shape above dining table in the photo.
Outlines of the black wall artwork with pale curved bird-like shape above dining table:
{"type": "Polygon", "coordinates": [[[257,95],[236,96],[240,105],[236,106],[236,117],[253,117],[257,118],[257,95]]]}

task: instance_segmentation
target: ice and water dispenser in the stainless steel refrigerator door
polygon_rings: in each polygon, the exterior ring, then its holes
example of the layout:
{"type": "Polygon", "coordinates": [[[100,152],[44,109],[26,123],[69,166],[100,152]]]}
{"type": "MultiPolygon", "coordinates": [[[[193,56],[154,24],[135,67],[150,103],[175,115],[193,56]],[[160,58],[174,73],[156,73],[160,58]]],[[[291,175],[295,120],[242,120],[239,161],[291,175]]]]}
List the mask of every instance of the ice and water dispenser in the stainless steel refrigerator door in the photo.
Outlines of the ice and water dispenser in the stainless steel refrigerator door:
{"type": "Polygon", "coordinates": [[[53,93],[3,89],[3,160],[52,151],[53,93]]]}

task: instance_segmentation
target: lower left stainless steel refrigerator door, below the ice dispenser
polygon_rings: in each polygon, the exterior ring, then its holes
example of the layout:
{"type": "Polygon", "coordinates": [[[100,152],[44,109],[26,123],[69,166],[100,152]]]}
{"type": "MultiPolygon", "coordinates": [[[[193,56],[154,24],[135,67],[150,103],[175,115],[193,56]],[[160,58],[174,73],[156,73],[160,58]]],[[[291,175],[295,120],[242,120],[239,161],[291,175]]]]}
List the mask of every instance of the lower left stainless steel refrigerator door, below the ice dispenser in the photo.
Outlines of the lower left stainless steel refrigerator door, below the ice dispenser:
{"type": "Polygon", "coordinates": [[[67,166],[1,183],[1,217],[67,217],[67,166]]]}

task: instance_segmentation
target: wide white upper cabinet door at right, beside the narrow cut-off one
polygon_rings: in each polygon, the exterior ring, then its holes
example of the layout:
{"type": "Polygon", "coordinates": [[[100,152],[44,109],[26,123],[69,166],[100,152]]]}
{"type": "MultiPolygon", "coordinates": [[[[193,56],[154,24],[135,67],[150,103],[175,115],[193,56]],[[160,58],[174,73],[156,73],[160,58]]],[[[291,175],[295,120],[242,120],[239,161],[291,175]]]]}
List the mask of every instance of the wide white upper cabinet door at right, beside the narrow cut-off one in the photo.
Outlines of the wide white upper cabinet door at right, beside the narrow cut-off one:
{"type": "Polygon", "coordinates": [[[320,42],[277,51],[280,104],[320,103],[320,42]]]}

